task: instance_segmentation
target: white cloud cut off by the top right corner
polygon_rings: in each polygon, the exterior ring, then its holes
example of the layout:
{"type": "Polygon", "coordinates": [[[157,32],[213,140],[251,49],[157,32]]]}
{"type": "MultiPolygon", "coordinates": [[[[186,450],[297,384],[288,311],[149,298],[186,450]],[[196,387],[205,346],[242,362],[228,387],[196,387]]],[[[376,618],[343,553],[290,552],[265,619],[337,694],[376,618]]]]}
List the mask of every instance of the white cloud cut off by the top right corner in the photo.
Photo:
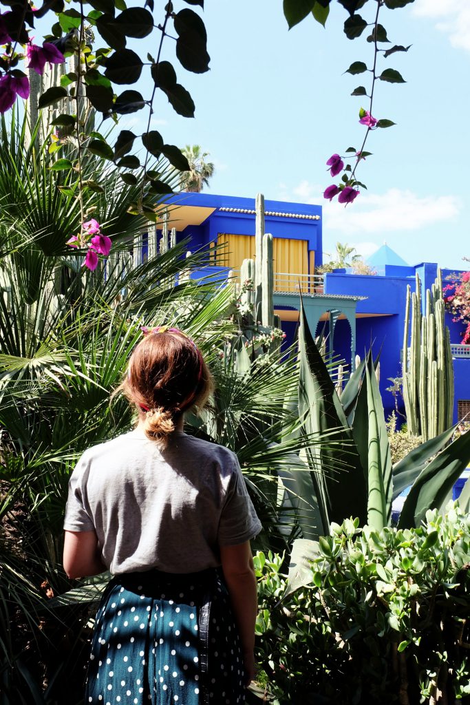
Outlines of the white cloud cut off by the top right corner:
{"type": "Polygon", "coordinates": [[[452,47],[470,51],[469,0],[416,0],[413,13],[416,17],[438,20],[435,26],[449,35],[452,47]]]}

